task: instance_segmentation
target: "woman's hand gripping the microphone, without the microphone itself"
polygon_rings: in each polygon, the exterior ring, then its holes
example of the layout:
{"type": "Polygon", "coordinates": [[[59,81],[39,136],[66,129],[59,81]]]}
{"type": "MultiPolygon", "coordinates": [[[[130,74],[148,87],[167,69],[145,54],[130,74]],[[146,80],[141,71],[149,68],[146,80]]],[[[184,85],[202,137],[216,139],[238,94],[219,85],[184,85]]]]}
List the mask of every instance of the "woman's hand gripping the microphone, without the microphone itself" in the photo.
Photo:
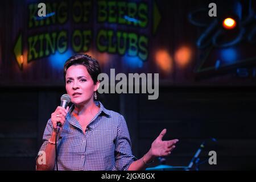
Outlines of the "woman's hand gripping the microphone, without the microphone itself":
{"type": "MultiPolygon", "coordinates": [[[[68,113],[68,109],[69,109],[69,106],[67,107],[67,109],[61,106],[57,106],[57,109],[51,114],[52,126],[55,131],[57,129],[57,122],[60,122],[61,126],[64,125],[66,121],[66,115],[68,113]]],[[[62,130],[62,127],[60,130],[62,130]]],[[[60,132],[61,131],[59,131],[59,133],[60,132]]]]}

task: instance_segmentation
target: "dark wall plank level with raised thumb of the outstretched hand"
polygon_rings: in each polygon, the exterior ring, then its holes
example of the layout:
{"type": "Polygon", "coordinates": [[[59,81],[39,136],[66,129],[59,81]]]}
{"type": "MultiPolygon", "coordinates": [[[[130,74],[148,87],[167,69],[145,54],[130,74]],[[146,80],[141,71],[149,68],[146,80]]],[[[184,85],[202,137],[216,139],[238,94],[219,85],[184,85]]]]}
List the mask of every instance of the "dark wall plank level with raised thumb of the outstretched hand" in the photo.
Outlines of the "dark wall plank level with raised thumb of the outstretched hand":
{"type": "Polygon", "coordinates": [[[178,122],[178,123],[139,123],[139,138],[153,139],[164,128],[166,138],[256,138],[255,125],[246,122],[238,123],[207,123],[207,122],[178,122]]]}

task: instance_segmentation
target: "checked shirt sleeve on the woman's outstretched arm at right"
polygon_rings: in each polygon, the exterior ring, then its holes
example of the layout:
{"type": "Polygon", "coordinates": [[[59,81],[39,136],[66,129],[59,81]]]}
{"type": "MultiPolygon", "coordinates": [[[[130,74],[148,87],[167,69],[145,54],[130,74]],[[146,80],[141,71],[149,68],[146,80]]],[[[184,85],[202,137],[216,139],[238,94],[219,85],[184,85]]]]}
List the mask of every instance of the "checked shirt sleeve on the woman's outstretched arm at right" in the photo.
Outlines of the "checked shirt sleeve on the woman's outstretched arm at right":
{"type": "Polygon", "coordinates": [[[125,118],[121,115],[120,124],[115,140],[115,169],[118,171],[127,171],[130,164],[135,160],[131,151],[131,139],[125,118]]]}

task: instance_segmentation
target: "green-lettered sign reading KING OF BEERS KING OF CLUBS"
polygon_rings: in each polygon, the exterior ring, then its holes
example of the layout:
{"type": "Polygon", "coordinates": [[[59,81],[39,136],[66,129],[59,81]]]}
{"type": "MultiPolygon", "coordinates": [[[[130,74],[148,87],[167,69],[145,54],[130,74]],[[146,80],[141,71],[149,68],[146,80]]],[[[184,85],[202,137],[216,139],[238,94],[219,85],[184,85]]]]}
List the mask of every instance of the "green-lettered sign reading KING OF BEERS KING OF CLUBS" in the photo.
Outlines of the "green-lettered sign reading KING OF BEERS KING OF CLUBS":
{"type": "Polygon", "coordinates": [[[160,21],[156,4],[151,12],[150,3],[48,2],[46,11],[51,16],[43,18],[37,16],[38,3],[31,3],[27,5],[27,35],[20,32],[15,44],[16,61],[22,68],[19,57],[23,47],[27,47],[27,63],[55,53],[87,52],[92,48],[146,61],[151,33],[156,32],[160,21]],[[151,15],[156,17],[152,19],[152,28],[151,15]]]}

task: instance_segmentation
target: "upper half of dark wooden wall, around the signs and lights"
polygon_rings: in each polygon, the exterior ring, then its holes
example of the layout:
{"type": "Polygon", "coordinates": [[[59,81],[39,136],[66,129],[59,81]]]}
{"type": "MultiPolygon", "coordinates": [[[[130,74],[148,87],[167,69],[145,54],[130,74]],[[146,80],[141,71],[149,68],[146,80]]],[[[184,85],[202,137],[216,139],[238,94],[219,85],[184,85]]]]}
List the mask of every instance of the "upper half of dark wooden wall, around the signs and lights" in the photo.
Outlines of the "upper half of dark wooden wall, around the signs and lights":
{"type": "MultiPolygon", "coordinates": [[[[82,0],[80,0],[82,1],[82,0]]],[[[236,1],[230,0],[229,2],[236,1]]],[[[34,2],[34,1],[33,1],[34,2]]],[[[56,0],[56,2],[61,2],[56,0]]],[[[67,1],[68,5],[72,5],[72,1],[67,1]]],[[[208,5],[212,1],[208,0],[179,0],[179,1],[147,1],[148,3],[148,27],[146,29],[140,30],[134,27],[123,27],[119,24],[109,24],[109,23],[97,23],[96,16],[96,5],[97,1],[93,2],[93,12],[92,19],[89,23],[75,24],[72,22],[72,14],[70,7],[68,9],[68,21],[67,23],[60,25],[55,24],[53,26],[43,26],[43,27],[33,27],[28,28],[28,5],[31,1],[3,1],[0,6],[0,85],[2,86],[61,86],[63,85],[63,65],[68,57],[56,57],[56,59],[61,59],[62,65],[59,64],[58,68],[51,65],[49,57],[43,57],[42,59],[32,60],[27,63],[27,53],[28,53],[28,37],[32,35],[44,34],[46,32],[66,30],[68,31],[68,51],[71,51],[72,55],[77,53],[73,52],[71,48],[71,35],[76,27],[80,27],[81,30],[87,30],[90,28],[93,33],[92,45],[90,45],[89,54],[96,57],[96,59],[101,64],[102,72],[109,73],[110,68],[115,68],[115,72],[121,73],[159,73],[160,81],[166,82],[168,85],[251,85],[255,84],[255,74],[253,78],[241,80],[236,75],[236,68],[232,69],[230,72],[233,75],[217,75],[210,78],[204,78],[201,80],[196,80],[195,68],[202,61],[204,57],[205,49],[199,49],[196,47],[196,41],[200,35],[203,34],[206,27],[194,26],[188,20],[188,14],[193,10],[208,8],[208,5]],[[157,6],[154,6],[154,2],[157,6]],[[157,7],[160,12],[160,23],[157,28],[156,34],[151,32],[152,28],[152,9],[157,7]],[[96,48],[96,32],[99,28],[106,28],[114,31],[127,31],[135,32],[141,34],[141,32],[146,31],[148,36],[148,59],[144,61],[142,67],[133,67],[130,65],[129,58],[125,59],[125,56],[118,55],[118,53],[101,53],[96,48]],[[22,46],[23,46],[23,70],[20,70],[18,64],[15,60],[14,46],[19,34],[22,34],[22,46]],[[192,51],[191,60],[189,63],[180,68],[175,61],[175,53],[182,47],[187,46],[192,51]],[[166,52],[172,58],[172,68],[169,73],[165,73],[163,68],[159,67],[156,61],[156,52],[159,50],[166,50],[166,52]],[[127,63],[129,62],[129,63],[127,63]],[[251,82],[253,80],[253,82],[251,82]]],[[[128,2],[128,1],[127,1],[128,2]]],[[[218,11],[221,13],[221,2],[226,1],[214,1],[218,4],[218,11]]],[[[246,15],[248,11],[249,0],[242,1],[242,13],[246,15]]],[[[36,1],[34,2],[36,3],[36,1]]],[[[255,11],[256,3],[252,1],[252,7],[255,11]]],[[[233,5],[230,3],[230,5],[233,5]]],[[[224,6],[225,7],[225,6],[224,6]]],[[[244,15],[244,16],[245,16],[244,15]]],[[[243,18],[245,18],[243,16],[243,18]]],[[[212,22],[213,18],[209,18],[207,12],[201,15],[199,18],[201,21],[212,22]]],[[[255,26],[255,22],[254,22],[255,26]]],[[[80,30],[79,29],[79,30],[80,30]]],[[[247,30],[247,29],[246,29],[247,30]]],[[[247,30],[249,31],[249,30],[247,30]]],[[[246,32],[247,33],[247,32],[246,32]]],[[[247,34],[246,34],[247,35],[247,34]]],[[[209,39],[211,37],[209,36],[209,39]]],[[[246,36],[243,38],[241,45],[245,44],[246,36]]],[[[255,43],[250,44],[250,48],[256,49],[255,43]]],[[[234,47],[236,48],[236,47],[234,47]]],[[[241,52],[237,49],[238,54],[241,52]]],[[[67,51],[67,52],[68,52],[67,51]]],[[[246,49],[246,51],[249,51],[246,49]]],[[[251,53],[251,52],[250,52],[251,53]]],[[[134,57],[131,57],[131,59],[134,57]]],[[[241,59],[245,59],[242,57],[241,59]]],[[[60,60],[58,60],[60,61],[60,60]]],[[[211,60],[209,60],[211,61],[211,60]]],[[[57,61],[56,61],[57,62],[57,61]]],[[[236,61],[235,61],[236,62],[236,61]]],[[[253,61],[251,61],[253,62],[253,61]]],[[[240,67],[238,67],[240,68],[240,67]]],[[[249,71],[255,68],[255,61],[252,65],[249,65],[249,71]]]]}

